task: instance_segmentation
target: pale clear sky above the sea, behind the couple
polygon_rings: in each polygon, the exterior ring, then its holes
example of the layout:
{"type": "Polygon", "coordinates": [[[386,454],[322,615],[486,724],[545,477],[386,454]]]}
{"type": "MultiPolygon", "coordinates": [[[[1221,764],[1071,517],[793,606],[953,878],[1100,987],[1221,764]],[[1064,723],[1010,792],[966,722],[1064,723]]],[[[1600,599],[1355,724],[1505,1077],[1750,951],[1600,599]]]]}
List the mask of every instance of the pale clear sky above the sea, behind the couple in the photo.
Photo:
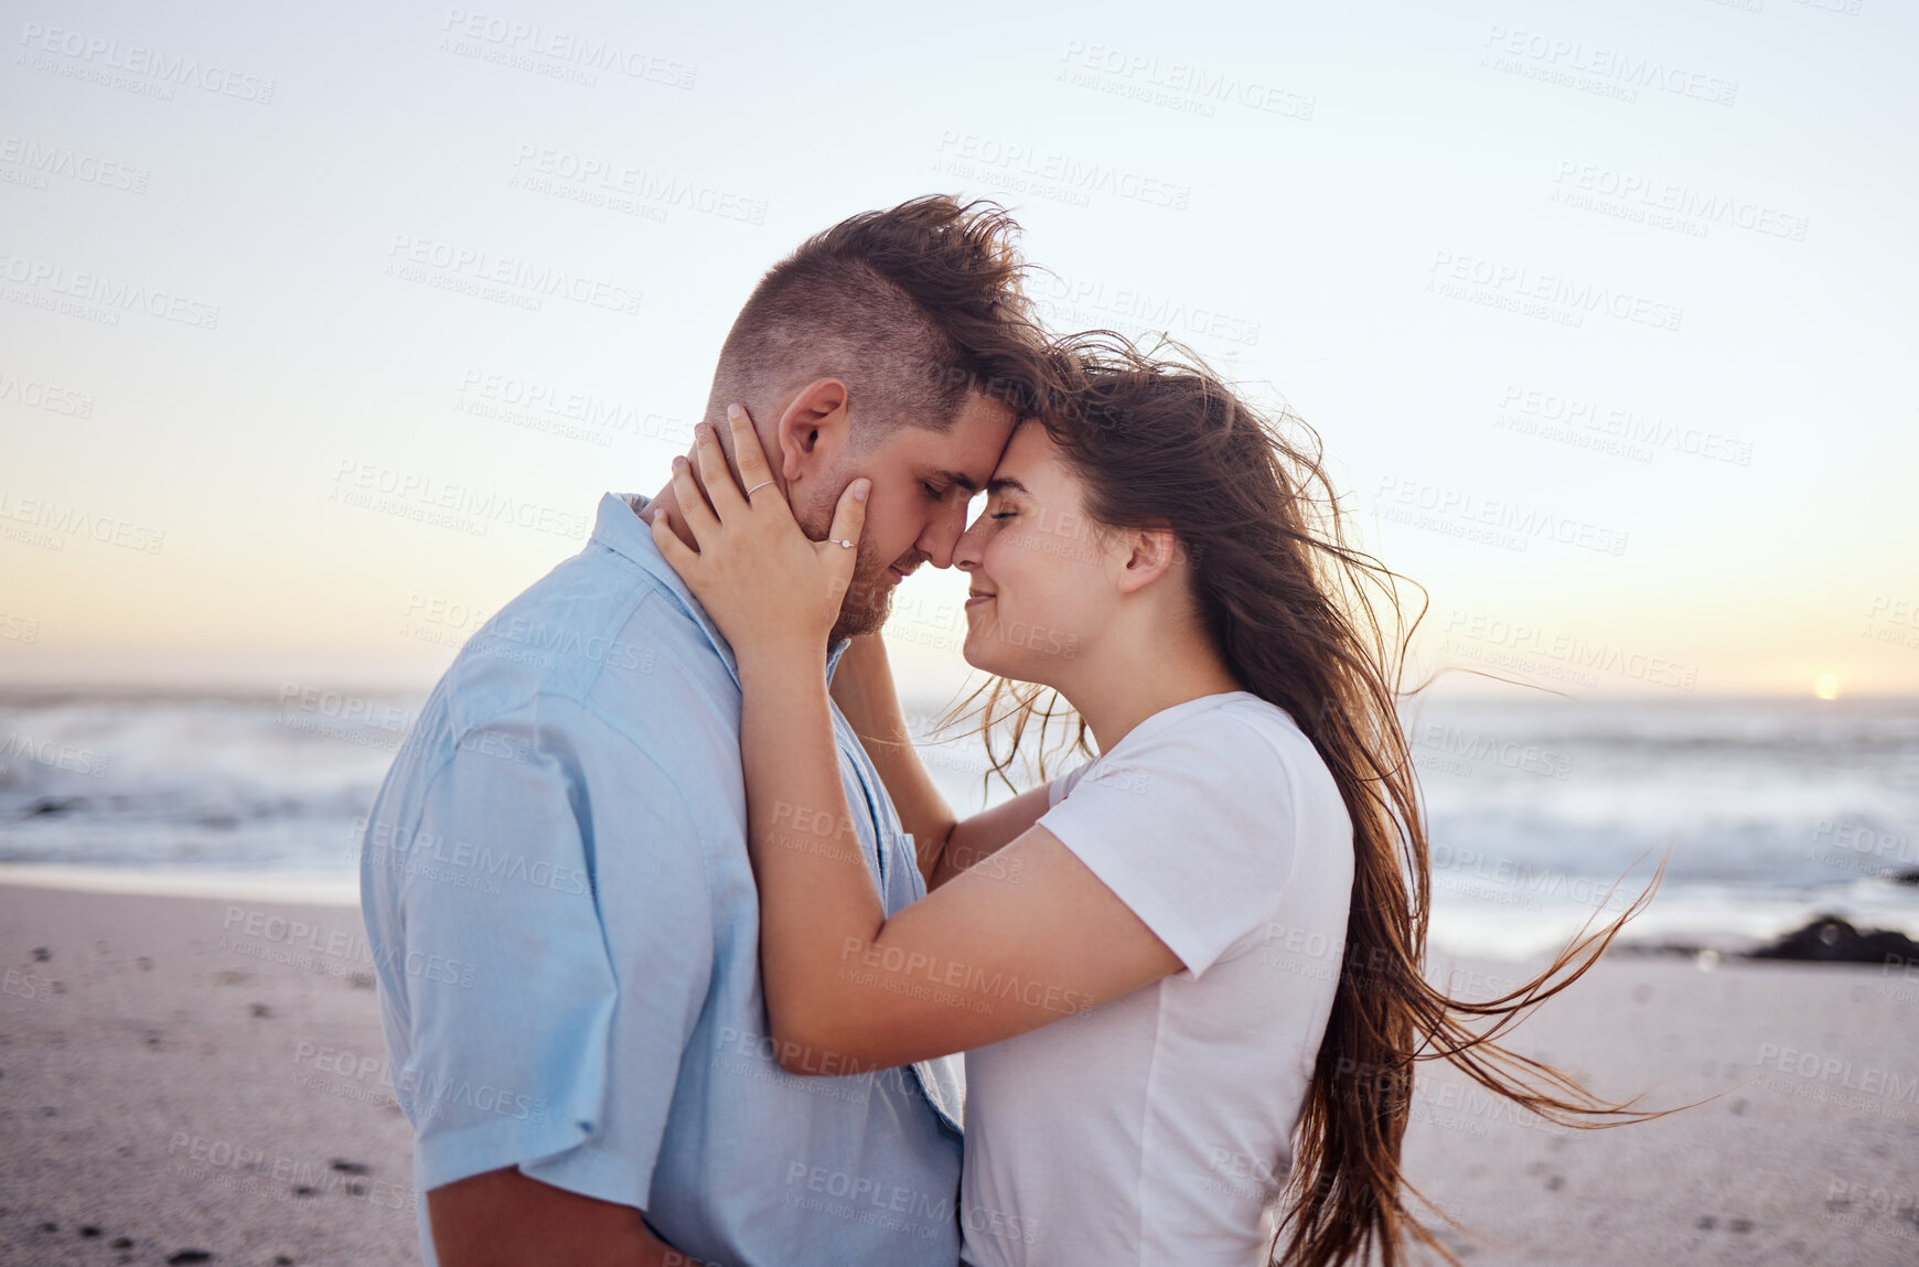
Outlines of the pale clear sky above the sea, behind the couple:
{"type": "MultiPolygon", "coordinates": [[[[1919,689],[1909,6],[38,2],[4,38],[0,681],[424,689],[664,482],[768,265],[944,190],[1015,209],[1059,326],[1171,324],[1311,422],[1430,660],[1919,689]]],[[[927,689],[963,589],[900,595],[927,689]]]]}

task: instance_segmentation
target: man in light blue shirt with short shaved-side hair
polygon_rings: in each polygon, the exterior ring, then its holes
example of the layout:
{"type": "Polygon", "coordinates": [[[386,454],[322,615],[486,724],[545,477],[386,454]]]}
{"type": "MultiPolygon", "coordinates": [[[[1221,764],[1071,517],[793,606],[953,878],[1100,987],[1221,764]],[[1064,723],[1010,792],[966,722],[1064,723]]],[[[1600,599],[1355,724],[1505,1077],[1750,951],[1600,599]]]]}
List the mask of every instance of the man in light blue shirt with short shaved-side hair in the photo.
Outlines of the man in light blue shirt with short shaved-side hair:
{"type": "MultiPolygon", "coordinates": [[[[852,217],[758,284],[706,422],[741,403],[810,536],[871,478],[829,676],[892,586],[948,566],[1038,390],[996,207],[852,217]]],[[[367,825],[361,900],[420,1242],[443,1267],[958,1259],[958,1062],[787,1073],[766,1037],[733,653],[660,557],[668,484],[455,658],[367,825]]],[[[858,737],[841,774],[887,912],[925,895],[858,737]]],[[[810,1062],[810,1064],[808,1064],[810,1062]]]]}

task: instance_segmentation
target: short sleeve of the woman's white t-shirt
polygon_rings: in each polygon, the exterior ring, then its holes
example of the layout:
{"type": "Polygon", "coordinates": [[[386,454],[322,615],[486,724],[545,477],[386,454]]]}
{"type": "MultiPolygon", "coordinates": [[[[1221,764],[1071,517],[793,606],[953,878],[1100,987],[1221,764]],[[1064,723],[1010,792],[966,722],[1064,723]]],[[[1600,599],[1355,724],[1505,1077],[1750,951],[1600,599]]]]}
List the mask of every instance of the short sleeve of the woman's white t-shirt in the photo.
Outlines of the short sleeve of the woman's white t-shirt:
{"type": "Polygon", "coordinates": [[[1297,824],[1288,770],[1257,726],[1209,708],[1126,735],[1075,774],[1038,825],[1194,977],[1270,920],[1297,824]]]}

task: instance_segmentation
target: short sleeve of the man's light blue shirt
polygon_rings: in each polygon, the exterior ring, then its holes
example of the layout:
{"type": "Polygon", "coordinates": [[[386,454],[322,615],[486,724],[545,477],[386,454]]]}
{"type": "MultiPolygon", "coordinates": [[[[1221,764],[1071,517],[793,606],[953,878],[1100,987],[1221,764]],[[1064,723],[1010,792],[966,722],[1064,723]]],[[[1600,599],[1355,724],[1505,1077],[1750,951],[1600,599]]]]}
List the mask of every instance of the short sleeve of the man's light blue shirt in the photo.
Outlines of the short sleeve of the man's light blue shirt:
{"type": "MultiPolygon", "coordinates": [[[[672,814],[597,824],[572,751],[564,728],[549,733],[526,718],[466,731],[424,787],[418,833],[376,858],[405,870],[401,927],[388,933],[382,975],[405,994],[397,1014],[409,1058],[393,1079],[418,1135],[420,1190],[520,1165],[645,1207],[708,985],[710,910],[687,900],[704,893],[704,879],[699,845],[681,835],[677,793],[662,785],[660,797],[639,797],[670,802],[672,814]],[[656,858],[654,868],[624,868],[651,883],[610,893],[595,858],[612,850],[656,858]],[[637,954],[608,943],[606,902],[637,929],[637,954]],[[633,958],[652,958],[643,981],[629,979],[633,958]],[[616,1029],[643,1035],[620,1044],[618,1077],[616,1029]]],[[[622,772],[626,810],[647,781],[643,766],[635,754],[622,772]]]]}

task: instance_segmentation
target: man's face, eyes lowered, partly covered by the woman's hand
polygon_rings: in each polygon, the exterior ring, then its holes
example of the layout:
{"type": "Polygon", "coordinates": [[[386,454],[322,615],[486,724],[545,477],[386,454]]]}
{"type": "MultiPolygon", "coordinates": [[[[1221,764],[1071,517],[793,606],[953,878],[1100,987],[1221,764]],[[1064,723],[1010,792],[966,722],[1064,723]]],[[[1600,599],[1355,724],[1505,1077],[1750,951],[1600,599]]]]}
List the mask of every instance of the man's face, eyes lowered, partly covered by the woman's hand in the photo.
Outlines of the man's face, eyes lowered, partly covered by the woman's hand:
{"type": "Polygon", "coordinates": [[[1004,403],[971,395],[944,432],[906,424],[873,447],[842,455],[819,491],[793,509],[806,536],[823,541],[846,486],[860,476],[873,480],[860,561],[833,639],[879,630],[892,609],[894,586],[921,562],[952,566],[967,501],[986,488],[1015,420],[1004,403]]]}

